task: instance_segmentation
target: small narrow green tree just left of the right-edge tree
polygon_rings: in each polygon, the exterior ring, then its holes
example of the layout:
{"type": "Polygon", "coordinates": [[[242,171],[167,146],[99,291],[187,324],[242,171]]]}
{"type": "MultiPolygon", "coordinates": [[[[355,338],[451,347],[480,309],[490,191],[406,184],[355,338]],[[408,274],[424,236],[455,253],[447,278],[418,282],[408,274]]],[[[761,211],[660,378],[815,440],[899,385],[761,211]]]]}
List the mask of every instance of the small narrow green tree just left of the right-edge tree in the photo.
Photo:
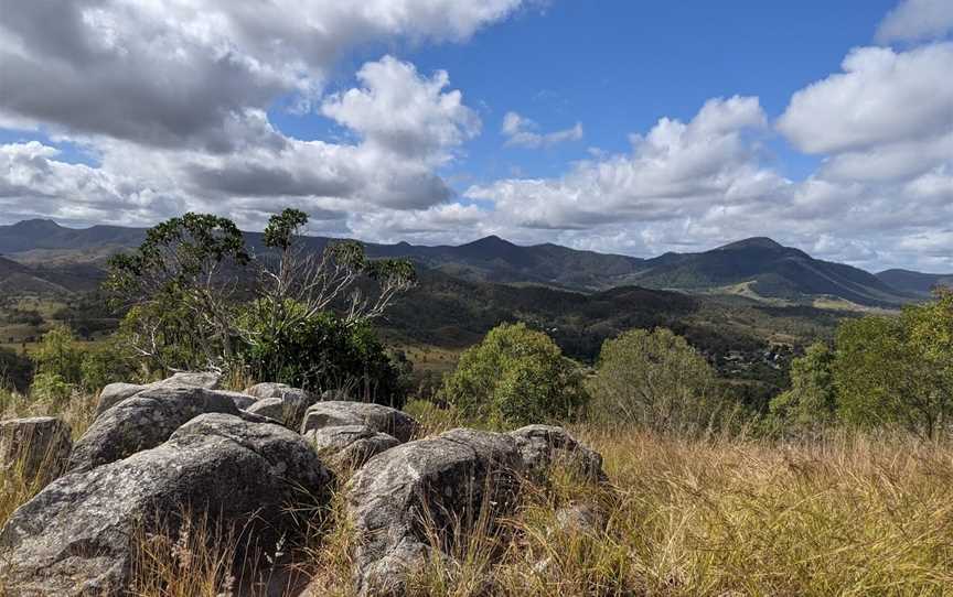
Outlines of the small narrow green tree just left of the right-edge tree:
{"type": "Polygon", "coordinates": [[[791,363],[791,389],[771,400],[771,417],[775,425],[812,430],[835,422],[834,361],[834,350],[824,343],[811,345],[803,357],[794,359],[791,363]]]}

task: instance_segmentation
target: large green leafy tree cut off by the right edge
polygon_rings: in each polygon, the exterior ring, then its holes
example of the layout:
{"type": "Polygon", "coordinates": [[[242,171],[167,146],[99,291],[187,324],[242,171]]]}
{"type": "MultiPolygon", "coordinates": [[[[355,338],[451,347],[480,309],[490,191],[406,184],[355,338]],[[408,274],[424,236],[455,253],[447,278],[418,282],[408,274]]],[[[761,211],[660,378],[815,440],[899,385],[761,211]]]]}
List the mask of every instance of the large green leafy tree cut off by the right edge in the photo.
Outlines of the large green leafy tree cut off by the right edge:
{"type": "Polygon", "coordinates": [[[953,293],[908,306],[899,317],[845,322],[834,379],[845,421],[900,425],[925,437],[953,420],[953,293]]]}

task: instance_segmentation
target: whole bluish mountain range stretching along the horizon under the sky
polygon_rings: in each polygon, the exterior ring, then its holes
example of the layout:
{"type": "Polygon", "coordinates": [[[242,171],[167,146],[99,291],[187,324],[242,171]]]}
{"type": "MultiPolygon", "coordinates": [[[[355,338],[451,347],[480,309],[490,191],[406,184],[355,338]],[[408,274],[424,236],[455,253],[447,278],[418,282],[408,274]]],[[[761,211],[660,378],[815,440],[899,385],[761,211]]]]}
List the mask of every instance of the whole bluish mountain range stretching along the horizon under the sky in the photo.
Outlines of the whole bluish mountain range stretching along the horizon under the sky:
{"type": "MultiPolygon", "coordinates": [[[[52,220],[0,226],[0,287],[85,290],[101,276],[106,259],[138,246],[143,228],[93,226],[75,229],[52,220]]],[[[246,232],[253,248],[261,235],[246,232]]],[[[325,237],[302,237],[312,250],[325,237]]],[[[703,252],[665,253],[651,259],[580,251],[558,245],[518,246],[495,236],[461,246],[365,243],[371,257],[406,257],[427,269],[469,282],[534,285],[582,293],[619,286],[674,290],[689,294],[735,294],[758,301],[840,301],[893,307],[928,296],[953,274],[887,270],[872,274],[852,265],[814,259],[769,238],[750,238],[703,252]]]]}

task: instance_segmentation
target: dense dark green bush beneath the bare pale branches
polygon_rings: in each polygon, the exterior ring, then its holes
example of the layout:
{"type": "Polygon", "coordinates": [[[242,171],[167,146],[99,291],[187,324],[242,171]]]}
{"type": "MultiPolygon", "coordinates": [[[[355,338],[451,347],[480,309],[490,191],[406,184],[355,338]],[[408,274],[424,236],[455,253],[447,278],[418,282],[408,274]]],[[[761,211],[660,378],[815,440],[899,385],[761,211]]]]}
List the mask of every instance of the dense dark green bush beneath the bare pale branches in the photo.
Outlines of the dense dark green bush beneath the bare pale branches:
{"type": "Polygon", "coordinates": [[[286,300],[283,316],[274,305],[249,303],[238,325],[247,341],[239,347],[254,378],[321,392],[344,390],[351,398],[400,408],[407,399],[407,361],[392,359],[367,323],[349,323],[332,312],[309,314],[286,300]],[[276,325],[277,324],[277,325],[276,325]]]}

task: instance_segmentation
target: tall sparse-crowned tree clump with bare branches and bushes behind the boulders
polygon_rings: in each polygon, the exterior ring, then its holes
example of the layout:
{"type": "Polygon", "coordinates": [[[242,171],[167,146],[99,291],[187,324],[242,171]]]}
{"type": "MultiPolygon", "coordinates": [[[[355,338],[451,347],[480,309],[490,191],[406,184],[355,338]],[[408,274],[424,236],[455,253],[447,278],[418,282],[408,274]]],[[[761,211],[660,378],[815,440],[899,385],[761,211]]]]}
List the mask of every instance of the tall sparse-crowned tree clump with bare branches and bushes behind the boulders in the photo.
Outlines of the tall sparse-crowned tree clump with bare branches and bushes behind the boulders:
{"type": "Polygon", "coordinates": [[[416,283],[413,264],[370,260],[355,241],[308,250],[307,222],[297,209],[272,216],[260,256],[217,216],[186,214],[149,230],[137,251],[110,262],[106,289],[129,307],[120,337],[150,369],[243,370],[403,402],[371,322],[416,283]]]}

